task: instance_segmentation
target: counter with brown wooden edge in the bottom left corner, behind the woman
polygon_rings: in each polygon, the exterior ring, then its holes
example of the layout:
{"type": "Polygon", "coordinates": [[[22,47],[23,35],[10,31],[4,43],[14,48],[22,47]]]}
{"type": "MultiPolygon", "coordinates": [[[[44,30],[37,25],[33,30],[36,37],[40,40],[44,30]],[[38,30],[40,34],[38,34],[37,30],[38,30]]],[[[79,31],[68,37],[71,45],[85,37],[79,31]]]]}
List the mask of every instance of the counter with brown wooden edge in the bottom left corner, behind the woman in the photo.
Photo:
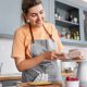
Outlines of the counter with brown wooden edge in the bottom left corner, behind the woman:
{"type": "Polygon", "coordinates": [[[1,74],[0,75],[0,87],[9,87],[9,86],[15,86],[18,82],[22,79],[21,73],[14,73],[14,74],[1,74]]]}

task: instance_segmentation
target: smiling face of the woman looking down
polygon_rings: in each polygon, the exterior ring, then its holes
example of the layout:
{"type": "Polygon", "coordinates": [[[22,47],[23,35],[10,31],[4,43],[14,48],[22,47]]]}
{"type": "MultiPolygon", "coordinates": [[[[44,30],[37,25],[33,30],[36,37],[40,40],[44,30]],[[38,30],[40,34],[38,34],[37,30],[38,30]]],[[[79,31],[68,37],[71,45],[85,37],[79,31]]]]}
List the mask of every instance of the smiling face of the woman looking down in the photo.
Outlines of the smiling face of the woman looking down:
{"type": "Polygon", "coordinates": [[[39,27],[42,26],[45,18],[45,11],[42,4],[38,4],[28,9],[27,20],[30,22],[32,26],[39,27]]]}

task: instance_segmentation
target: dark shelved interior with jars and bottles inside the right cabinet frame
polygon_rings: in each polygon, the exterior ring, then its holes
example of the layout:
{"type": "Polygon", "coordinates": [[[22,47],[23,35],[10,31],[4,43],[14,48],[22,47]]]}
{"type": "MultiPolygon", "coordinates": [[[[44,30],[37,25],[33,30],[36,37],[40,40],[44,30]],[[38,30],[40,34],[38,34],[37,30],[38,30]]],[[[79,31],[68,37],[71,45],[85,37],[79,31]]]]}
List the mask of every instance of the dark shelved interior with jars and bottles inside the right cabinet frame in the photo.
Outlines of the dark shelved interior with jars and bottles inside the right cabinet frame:
{"type": "Polygon", "coordinates": [[[79,40],[78,9],[54,1],[55,25],[60,28],[61,38],[79,40]]]}

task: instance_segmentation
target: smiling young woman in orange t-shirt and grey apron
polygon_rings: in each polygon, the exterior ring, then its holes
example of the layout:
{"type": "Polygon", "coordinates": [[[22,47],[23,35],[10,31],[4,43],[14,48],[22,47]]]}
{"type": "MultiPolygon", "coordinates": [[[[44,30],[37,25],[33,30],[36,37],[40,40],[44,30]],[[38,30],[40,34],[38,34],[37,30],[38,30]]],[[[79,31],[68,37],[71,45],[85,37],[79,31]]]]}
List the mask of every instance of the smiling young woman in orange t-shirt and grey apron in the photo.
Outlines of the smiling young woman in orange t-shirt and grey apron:
{"type": "Polygon", "coordinates": [[[40,0],[23,0],[25,24],[14,33],[12,58],[23,82],[61,80],[57,60],[63,60],[62,44],[54,25],[44,21],[40,0]]]}

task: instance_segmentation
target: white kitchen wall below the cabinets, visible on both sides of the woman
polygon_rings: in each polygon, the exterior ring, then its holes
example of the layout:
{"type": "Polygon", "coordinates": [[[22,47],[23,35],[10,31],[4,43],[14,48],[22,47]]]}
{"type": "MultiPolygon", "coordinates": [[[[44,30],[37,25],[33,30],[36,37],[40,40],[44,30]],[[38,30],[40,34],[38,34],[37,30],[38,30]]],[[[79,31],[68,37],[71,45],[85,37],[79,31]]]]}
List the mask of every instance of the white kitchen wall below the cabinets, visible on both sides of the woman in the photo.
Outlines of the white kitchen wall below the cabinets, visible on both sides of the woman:
{"type": "MultiPolygon", "coordinates": [[[[63,52],[67,52],[70,49],[76,49],[76,48],[82,48],[82,47],[64,45],[63,52]]],[[[0,63],[2,62],[2,69],[1,69],[2,74],[18,73],[14,60],[11,58],[11,51],[12,51],[12,39],[0,38],[0,63]]],[[[70,66],[70,64],[67,64],[66,66],[70,66]]]]}

